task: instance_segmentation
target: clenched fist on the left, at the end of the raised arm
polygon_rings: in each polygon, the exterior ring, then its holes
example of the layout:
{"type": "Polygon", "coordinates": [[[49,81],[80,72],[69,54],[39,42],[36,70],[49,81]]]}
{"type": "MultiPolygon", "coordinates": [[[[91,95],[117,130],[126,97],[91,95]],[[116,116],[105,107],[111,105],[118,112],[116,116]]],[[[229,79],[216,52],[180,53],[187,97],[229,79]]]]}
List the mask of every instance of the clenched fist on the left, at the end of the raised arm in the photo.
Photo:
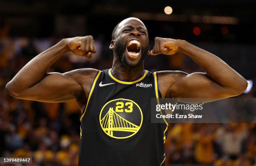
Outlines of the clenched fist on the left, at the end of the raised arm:
{"type": "Polygon", "coordinates": [[[95,42],[92,36],[67,38],[66,45],[72,53],[89,59],[92,58],[92,53],[96,53],[95,42]]]}

